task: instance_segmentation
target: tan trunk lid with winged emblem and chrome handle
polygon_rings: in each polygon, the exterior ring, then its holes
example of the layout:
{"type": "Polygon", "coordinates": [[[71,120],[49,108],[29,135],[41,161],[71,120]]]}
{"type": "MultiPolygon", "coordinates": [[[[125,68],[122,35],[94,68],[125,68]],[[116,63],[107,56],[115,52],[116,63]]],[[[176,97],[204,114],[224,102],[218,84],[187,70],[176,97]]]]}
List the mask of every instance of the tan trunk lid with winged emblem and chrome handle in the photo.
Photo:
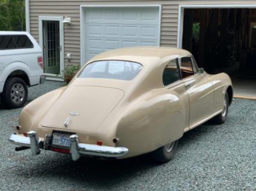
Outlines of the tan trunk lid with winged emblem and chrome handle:
{"type": "Polygon", "coordinates": [[[69,86],[44,116],[41,125],[95,132],[123,96],[123,90],[112,87],[69,86]]]}

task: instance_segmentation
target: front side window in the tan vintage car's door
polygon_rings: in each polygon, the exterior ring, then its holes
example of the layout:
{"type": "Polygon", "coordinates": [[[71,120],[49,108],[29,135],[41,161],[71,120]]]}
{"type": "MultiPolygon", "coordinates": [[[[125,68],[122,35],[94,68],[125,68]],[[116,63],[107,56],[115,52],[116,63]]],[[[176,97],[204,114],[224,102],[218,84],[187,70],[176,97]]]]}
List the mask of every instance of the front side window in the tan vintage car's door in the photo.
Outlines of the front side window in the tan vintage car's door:
{"type": "Polygon", "coordinates": [[[181,57],[180,71],[182,78],[194,75],[194,65],[190,56],[181,57]]]}

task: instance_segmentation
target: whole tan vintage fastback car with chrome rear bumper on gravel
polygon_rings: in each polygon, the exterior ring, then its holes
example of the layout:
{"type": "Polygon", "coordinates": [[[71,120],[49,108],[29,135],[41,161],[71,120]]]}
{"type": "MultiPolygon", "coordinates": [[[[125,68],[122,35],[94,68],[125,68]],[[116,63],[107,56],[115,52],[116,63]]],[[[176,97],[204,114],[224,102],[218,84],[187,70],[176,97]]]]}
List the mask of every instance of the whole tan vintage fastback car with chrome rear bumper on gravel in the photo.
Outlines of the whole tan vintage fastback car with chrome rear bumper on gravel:
{"type": "Polygon", "coordinates": [[[26,105],[9,141],[17,151],[71,153],[73,160],[150,153],[168,162],[184,132],[210,119],[224,123],[232,100],[230,77],[198,69],[186,50],[120,48],[26,105]]]}

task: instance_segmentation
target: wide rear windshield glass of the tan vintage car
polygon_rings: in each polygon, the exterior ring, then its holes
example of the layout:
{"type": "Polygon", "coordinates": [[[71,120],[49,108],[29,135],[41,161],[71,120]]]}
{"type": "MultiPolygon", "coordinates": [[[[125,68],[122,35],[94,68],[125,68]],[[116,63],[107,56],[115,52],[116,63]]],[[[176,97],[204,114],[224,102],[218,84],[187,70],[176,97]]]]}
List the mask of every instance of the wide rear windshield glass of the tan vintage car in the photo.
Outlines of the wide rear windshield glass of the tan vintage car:
{"type": "Polygon", "coordinates": [[[142,65],[124,60],[102,60],[89,63],[79,74],[79,78],[111,78],[132,80],[141,71],[142,65]]]}

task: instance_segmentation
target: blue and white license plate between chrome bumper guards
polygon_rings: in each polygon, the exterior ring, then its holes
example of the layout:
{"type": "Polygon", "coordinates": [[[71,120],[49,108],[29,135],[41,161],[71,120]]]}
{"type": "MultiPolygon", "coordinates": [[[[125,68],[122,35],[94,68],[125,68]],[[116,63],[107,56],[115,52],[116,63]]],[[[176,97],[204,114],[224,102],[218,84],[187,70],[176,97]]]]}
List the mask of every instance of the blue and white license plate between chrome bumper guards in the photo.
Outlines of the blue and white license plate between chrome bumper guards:
{"type": "Polygon", "coordinates": [[[69,137],[70,135],[66,135],[66,134],[53,134],[52,147],[70,148],[71,141],[69,137]]]}

